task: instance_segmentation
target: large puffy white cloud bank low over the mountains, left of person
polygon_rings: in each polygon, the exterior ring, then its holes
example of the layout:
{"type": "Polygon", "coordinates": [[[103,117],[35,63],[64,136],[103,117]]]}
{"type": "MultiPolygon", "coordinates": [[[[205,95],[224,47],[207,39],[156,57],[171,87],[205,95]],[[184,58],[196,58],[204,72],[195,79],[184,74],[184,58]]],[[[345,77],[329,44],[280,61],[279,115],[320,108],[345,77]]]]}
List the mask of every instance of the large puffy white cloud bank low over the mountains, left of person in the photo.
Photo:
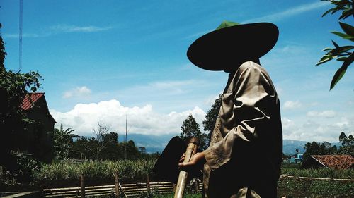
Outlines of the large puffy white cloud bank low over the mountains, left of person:
{"type": "Polygon", "coordinates": [[[156,113],[152,105],[126,107],[118,100],[100,101],[91,104],[76,104],[74,109],[67,112],[55,111],[50,113],[57,120],[58,127],[61,123],[64,127],[75,129],[78,135],[93,135],[92,128],[97,122],[110,125],[111,129],[119,134],[125,133],[125,116],[127,116],[127,128],[129,132],[151,135],[178,134],[183,120],[192,114],[202,130],[202,120],[205,112],[198,106],[183,112],[156,113]]]}

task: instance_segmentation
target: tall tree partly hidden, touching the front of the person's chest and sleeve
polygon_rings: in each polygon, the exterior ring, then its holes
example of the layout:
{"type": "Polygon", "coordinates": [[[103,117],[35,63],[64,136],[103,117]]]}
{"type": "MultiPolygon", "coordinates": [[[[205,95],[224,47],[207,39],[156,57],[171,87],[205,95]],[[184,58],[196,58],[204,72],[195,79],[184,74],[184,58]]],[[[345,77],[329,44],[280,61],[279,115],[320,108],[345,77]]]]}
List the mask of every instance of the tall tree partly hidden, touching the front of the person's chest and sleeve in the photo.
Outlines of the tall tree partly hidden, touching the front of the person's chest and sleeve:
{"type": "Polygon", "coordinates": [[[204,127],[204,131],[209,132],[207,135],[207,144],[209,144],[209,142],[210,142],[212,130],[214,130],[217,116],[219,116],[219,109],[221,106],[221,97],[222,97],[222,94],[219,94],[219,97],[217,99],[215,99],[214,104],[212,104],[212,108],[209,109],[209,111],[207,111],[207,114],[205,114],[205,120],[202,120],[202,125],[204,127]]]}

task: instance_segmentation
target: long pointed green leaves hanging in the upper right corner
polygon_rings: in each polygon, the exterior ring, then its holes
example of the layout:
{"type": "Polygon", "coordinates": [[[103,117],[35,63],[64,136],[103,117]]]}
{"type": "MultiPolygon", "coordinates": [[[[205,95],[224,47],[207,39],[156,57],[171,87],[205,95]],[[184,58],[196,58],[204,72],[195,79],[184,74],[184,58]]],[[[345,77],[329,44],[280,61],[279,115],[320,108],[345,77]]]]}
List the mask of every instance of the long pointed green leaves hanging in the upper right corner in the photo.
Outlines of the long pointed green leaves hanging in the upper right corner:
{"type": "MultiPolygon", "coordinates": [[[[321,1],[329,1],[331,4],[334,5],[334,7],[326,11],[322,15],[322,17],[326,16],[328,13],[333,14],[336,13],[337,11],[341,11],[342,13],[341,16],[339,16],[338,18],[339,20],[350,18],[350,21],[353,22],[353,17],[354,17],[353,0],[321,0],[321,1]]],[[[331,33],[338,35],[338,37],[341,37],[342,39],[346,39],[351,44],[353,44],[352,42],[354,42],[354,27],[348,23],[343,23],[341,21],[339,22],[339,25],[341,26],[343,32],[331,32],[331,33]]],[[[323,51],[326,51],[326,54],[324,54],[324,56],[322,56],[319,62],[316,63],[316,66],[319,66],[322,63],[326,63],[333,59],[343,62],[341,68],[339,68],[333,76],[330,90],[333,89],[333,87],[337,84],[339,80],[341,80],[343,75],[346,73],[348,66],[350,66],[351,63],[353,63],[354,61],[353,45],[339,46],[333,40],[332,43],[334,47],[333,48],[326,47],[325,49],[323,49],[323,51]]]]}

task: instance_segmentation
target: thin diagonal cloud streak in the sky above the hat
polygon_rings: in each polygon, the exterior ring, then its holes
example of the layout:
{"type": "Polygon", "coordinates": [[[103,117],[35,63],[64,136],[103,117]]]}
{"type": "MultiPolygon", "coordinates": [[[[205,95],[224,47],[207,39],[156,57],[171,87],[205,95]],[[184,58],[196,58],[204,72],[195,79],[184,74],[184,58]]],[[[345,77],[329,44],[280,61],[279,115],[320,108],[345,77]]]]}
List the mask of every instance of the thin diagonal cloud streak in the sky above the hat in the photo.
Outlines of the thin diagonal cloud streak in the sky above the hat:
{"type": "Polygon", "coordinates": [[[307,11],[313,11],[317,8],[321,8],[324,6],[329,6],[328,2],[324,2],[324,1],[319,1],[319,2],[314,2],[311,4],[304,4],[301,6],[297,6],[295,8],[290,8],[287,9],[285,11],[281,11],[278,13],[273,13],[270,14],[268,16],[261,16],[259,18],[253,18],[251,20],[246,20],[243,21],[242,23],[250,23],[250,22],[254,22],[254,21],[276,21],[276,20],[282,20],[284,18],[288,18],[291,16],[296,16],[299,15],[301,13],[307,12],[307,11]]]}

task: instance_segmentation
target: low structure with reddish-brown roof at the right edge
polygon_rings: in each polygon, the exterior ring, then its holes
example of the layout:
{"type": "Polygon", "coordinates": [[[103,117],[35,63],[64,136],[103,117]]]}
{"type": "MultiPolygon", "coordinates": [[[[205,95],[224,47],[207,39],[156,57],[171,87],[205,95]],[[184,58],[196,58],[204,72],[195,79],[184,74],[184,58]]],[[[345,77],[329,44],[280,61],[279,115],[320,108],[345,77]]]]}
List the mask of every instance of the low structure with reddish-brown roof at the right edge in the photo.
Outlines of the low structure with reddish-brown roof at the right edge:
{"type": "Polygon", "coordinates": [[[354,168],[354,157],[351,155],[312,155],[304,161],[303,168],[354,168]]]}

